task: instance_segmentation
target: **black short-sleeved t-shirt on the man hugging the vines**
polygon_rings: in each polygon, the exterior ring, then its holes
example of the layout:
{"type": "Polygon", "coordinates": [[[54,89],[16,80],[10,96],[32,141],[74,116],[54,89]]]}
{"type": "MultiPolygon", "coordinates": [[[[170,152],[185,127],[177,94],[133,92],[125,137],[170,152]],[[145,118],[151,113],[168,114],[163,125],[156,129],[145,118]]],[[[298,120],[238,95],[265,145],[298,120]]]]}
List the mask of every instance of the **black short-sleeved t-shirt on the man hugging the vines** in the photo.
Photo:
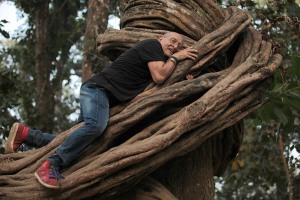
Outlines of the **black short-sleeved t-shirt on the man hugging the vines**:
{"type": "Polygon", "coordinates": [[[150,61],[166,61],[157,39],[138,43],[87,82],[104,87],[120,102],[131,100],[143,92],[152,80],[148,68],[150,61]]]}

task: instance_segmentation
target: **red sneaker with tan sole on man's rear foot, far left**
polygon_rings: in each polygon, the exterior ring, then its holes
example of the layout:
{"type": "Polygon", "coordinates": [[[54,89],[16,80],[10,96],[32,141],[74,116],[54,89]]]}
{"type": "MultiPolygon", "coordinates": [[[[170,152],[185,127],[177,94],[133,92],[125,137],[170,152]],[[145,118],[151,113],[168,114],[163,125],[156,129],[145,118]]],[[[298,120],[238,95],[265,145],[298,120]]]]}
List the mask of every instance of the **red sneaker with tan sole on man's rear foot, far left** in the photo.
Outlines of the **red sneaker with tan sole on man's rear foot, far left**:
{"type": "Polygon", "coordinates": [[[16,152],[17,149],[27,140],[28,128],[21,123],[14,123],[9,131],[9,136],[5,145],[7,153],[16,152]]]}

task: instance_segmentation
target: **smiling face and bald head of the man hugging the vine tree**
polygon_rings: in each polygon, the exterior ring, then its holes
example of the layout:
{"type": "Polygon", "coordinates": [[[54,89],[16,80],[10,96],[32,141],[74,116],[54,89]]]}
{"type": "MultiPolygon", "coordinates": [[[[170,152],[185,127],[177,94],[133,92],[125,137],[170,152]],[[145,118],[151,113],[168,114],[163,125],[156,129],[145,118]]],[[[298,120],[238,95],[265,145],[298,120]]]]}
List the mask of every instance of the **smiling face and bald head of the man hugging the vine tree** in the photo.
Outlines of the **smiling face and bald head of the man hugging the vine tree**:
{"type": "Polygon", "coordinates": [[[165,56],[169,57],[182,48],[182,36],[178,33],[169,32],[158,38],[165,56]]]}

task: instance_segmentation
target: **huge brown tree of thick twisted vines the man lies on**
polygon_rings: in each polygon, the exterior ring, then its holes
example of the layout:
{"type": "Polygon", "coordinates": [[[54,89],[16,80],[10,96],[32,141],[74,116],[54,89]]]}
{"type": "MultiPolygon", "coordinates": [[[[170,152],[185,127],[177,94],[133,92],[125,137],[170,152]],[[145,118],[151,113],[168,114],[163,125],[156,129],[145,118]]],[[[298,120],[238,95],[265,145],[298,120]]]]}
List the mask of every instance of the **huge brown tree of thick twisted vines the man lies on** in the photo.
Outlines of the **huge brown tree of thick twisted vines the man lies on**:
{"type": "Polygon", "coordinates": [[[213,199],[213,176],[237,154],[243,118],[263,103],[281,56],[248,14],[213,1],[128,1],[123,16],[121,30],[99,36],[101,53],[113,59],[169,30],[185,35],[197,59],[180,62],[165,83],[112,108],[106,131],[63,173],[59,191],[47,192],[32,173],[81,124],[41,149],[1,155],[0,196],[213,199]],[[186,74],[195,78],[185,80],[186,74]]]}

